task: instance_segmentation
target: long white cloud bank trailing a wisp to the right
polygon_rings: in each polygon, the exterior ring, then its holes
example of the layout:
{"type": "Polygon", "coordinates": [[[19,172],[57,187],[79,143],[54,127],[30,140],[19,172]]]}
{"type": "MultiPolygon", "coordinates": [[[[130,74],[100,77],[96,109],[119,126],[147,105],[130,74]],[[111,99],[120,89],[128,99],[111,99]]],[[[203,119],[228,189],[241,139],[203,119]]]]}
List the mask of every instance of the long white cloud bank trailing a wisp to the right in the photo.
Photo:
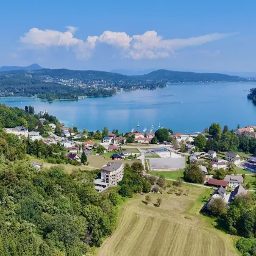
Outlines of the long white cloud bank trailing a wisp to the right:
{"type": "Polygon", "coordinates": [[[208,34],[183,39],[163,39],[156,31],[146,31],[141,35],[125,32],[104,31],[101,35],[88,36],[87,40],[74,37],[77,27],[67,26],[65,32],[57,30],[40,30],[34,27],[26,32],[20,41],[32,48],[65,47],[76,54],[79,59],[88,59],[97,44],[105,43],[121,49],[122,57],[132,59],[157,59],[169,57],[174,51],[189,46],[197,46],[232,34],[208,34]]]}

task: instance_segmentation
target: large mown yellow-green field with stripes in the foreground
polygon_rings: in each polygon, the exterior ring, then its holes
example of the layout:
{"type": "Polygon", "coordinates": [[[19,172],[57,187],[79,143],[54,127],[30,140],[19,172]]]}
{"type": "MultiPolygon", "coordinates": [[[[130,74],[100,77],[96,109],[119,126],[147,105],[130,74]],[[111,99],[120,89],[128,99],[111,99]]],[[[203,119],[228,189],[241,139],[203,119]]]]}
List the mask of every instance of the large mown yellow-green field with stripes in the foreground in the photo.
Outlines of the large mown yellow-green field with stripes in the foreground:
{"type": "Polygon", "coordinates": [[[151,194],[152,202],[145,205],[144,196],[123,205],[118,227],[102,244],[98,256],[172,255],[172,256],[235,256],[238,255],[231,236],[213,228],[197,213],[207,188],[190,189],[182,194],[151,194]],[[157,197],[162,205],[155,207],[157,197]]]}

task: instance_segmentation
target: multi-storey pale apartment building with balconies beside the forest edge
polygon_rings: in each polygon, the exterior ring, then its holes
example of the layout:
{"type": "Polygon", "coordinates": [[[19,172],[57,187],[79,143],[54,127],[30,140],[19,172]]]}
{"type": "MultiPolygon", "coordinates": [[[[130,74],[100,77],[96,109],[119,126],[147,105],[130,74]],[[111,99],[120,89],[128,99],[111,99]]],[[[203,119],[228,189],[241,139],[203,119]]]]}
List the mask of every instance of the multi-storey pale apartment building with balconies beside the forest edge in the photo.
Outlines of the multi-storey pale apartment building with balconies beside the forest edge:
{"type": "MultiPolygon", "coordinates": [[[[102,191],[101,187],[110,187],[115,186],[121,181],[124,177],[124,165],[121,162],[107,163],[107,165],[102,166],[101,168],[101,179],[94,181],[96,190],[99,192],[102,191]],[[104,183],[101,183],[104,182],[104,183]]],[[[104,190],[104,189],[103,189],[104,190]]]]}

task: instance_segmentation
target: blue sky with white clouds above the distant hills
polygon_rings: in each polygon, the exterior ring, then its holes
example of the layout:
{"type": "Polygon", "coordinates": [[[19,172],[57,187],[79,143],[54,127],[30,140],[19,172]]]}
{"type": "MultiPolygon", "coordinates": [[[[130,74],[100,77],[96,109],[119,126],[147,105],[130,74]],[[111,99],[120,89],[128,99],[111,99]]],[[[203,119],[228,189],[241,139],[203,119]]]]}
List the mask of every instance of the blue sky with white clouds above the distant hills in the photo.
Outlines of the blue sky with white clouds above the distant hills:
{"type": "Polygon", "coordinates": [[[256,2],[2,0],[0,66],[256,73],[256,2]]]}

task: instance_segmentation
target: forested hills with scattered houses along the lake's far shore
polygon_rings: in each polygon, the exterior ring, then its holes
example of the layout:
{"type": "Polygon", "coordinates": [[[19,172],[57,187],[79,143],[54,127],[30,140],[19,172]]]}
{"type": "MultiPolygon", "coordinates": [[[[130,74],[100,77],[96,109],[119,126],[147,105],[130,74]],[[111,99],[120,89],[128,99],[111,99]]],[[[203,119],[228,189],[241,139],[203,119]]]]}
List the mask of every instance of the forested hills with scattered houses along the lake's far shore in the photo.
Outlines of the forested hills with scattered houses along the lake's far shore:
{"type": "Polygon", "coordinates": [[[238,76],[179,72],[160,69],[141,76],[105,71],[69,69],[12,70],[0,72],[0,96],[34,96],[41,99],[78,99],[81,96],[112,96],[119,89],[155,89],[167,82],[248,81],[238,76]]]}

